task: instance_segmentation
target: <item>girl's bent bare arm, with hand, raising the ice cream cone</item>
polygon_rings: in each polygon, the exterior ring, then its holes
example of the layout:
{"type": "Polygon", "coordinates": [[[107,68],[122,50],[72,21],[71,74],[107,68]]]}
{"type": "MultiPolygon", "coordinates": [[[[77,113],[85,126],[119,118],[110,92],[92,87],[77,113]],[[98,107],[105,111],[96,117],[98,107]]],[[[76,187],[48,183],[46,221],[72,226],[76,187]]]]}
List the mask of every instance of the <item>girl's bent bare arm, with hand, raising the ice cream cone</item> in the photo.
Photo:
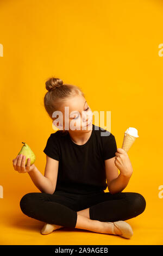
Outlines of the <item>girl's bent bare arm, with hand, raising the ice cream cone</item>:
{"type": "Polygon", "coordinates": [[[123,149],[117,149],[115,157],[105,160],[106,179],[111,194],[121,192],[128,185],[133,168],[128,154],[123,149]],[[118,175],[118,169],[120,174],[118,175]]]}

